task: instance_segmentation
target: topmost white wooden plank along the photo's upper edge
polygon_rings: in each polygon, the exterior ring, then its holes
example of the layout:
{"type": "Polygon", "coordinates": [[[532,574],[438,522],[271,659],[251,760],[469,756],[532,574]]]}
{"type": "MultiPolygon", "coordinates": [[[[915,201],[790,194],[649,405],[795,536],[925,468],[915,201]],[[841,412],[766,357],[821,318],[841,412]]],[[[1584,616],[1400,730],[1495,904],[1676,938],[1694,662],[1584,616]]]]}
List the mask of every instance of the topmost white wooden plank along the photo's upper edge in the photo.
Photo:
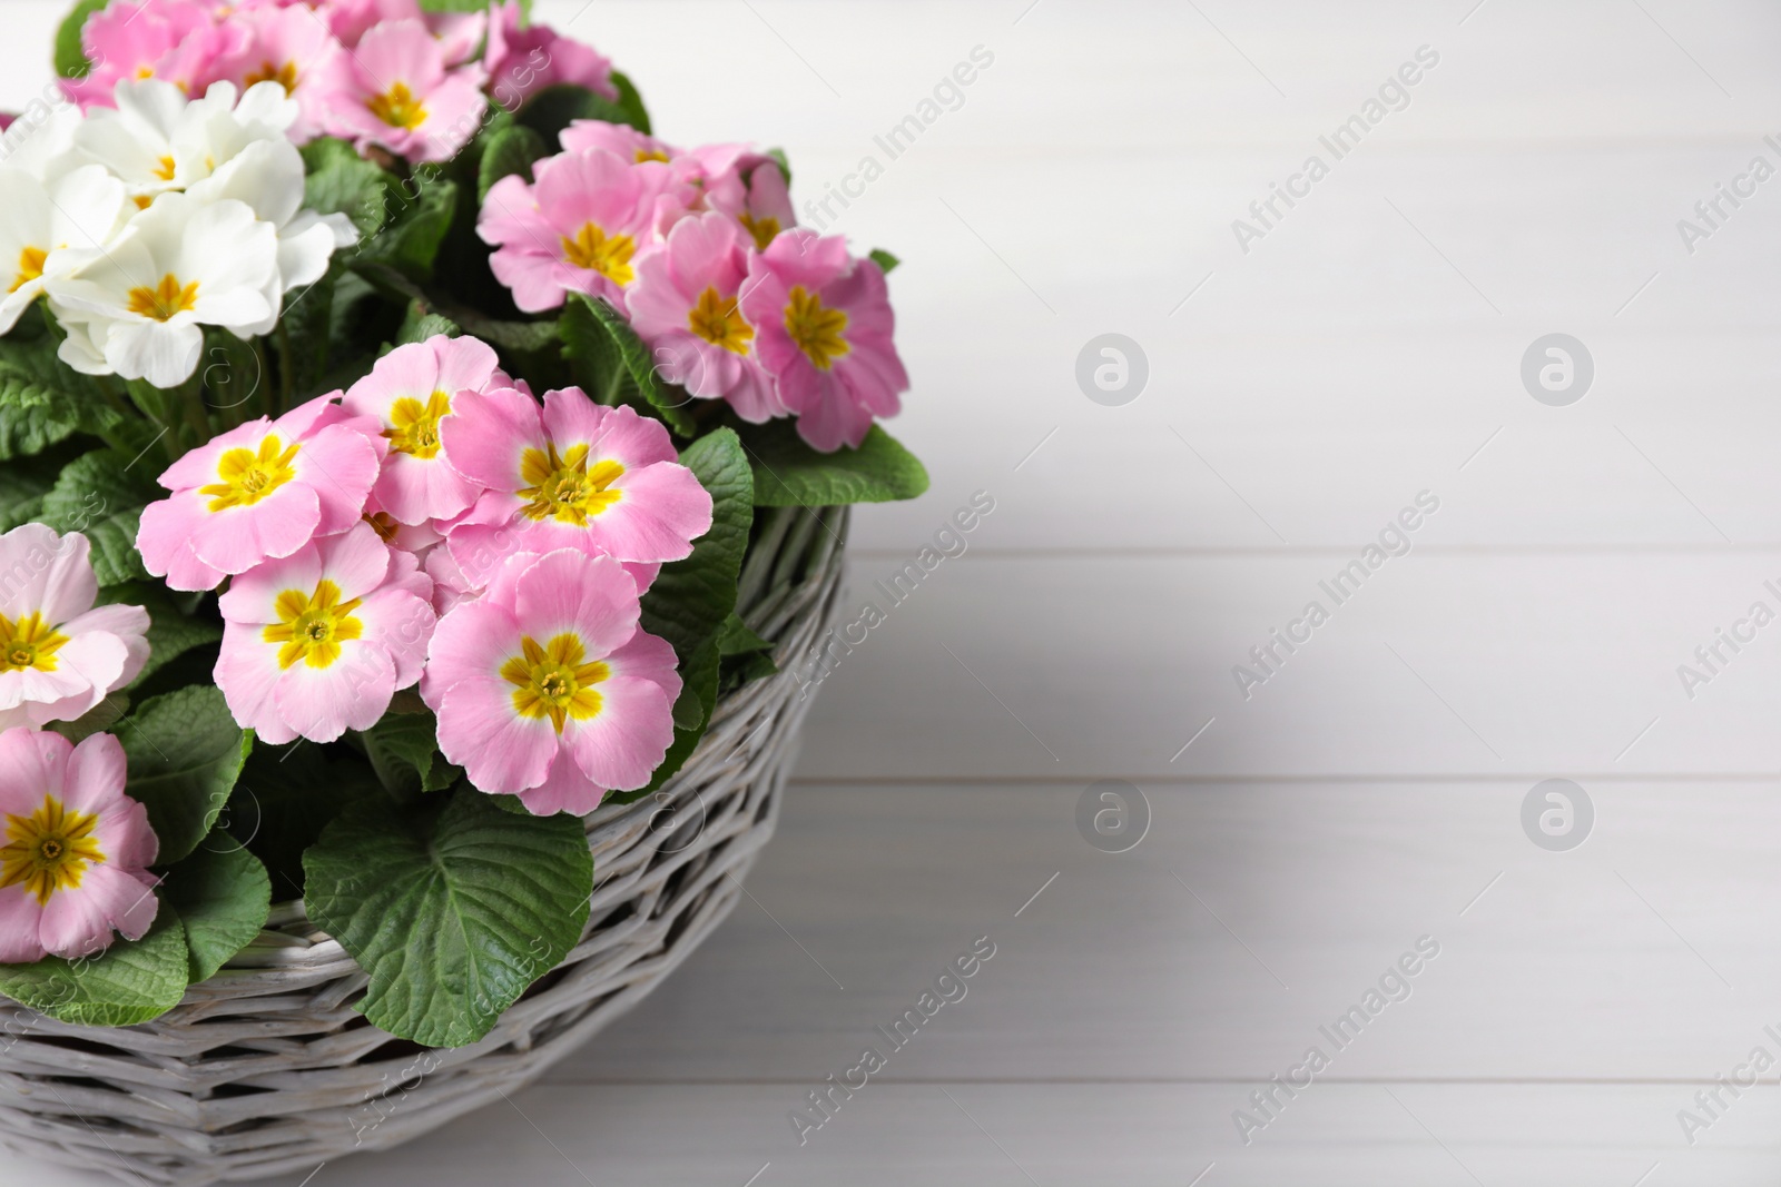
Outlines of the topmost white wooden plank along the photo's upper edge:
{"type": "Polygon", "coordinates": [[[1460,25],[1475,4],[1222,0],[1195,12],[1092,0],[700,0],[668,7],[673,37],[657,2],[541,0],[536,11],[613,55],[664,126],[730,137],[780,128],[787,142],[853,148],[978,43],[997,53],[997,91],[956,112],[971,114],[958,135],[1047,155],[1072,141],[1297,144],[1354,114],[1423,43],[1443,62],[1395,116],[1419,135],[1574,142],[1770,130],[1763,112],[1781,87],[1760,46],[1781,36],[1781,21],[1765,5],[1647,0],[1646,16],[1619,4],[1492,0],[1460,25]]]}

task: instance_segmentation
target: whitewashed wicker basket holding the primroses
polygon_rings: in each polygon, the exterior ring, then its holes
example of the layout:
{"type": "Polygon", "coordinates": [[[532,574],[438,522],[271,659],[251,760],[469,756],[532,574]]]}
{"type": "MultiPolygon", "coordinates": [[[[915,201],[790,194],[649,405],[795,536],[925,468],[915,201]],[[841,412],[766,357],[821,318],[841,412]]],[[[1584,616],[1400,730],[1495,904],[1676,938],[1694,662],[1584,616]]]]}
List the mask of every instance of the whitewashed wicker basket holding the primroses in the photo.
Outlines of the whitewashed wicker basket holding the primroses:
{"type": "MultiPolygon", "coordinates": [[[[844,534],[844,511],[760,516],[739,610],[782,669],[826,626],[844,534]]],[[[0,1007],[0,1144],[134,1183],[265,1178],[401,1144],[524,1087],[643,1000],[736,906],[807,708],[791,671],[744,685],[659,795],[588,817],[588,929],[474,1046],[433,1052],[367,1023],[353,1011],[365,973],[303,902],[285,902],[151,1023],[73,1027],[0,1007]]]]}

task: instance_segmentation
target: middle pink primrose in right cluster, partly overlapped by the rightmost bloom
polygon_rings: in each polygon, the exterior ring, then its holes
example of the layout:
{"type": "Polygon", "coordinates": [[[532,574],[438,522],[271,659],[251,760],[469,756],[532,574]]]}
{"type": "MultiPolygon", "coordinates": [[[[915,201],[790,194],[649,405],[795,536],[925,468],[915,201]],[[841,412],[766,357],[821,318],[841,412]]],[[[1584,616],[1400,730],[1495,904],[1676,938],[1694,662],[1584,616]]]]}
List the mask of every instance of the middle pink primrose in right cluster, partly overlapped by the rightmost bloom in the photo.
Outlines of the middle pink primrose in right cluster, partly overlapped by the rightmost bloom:
{"type": "Polygon", "coordinates": [[[743,226],[725,214],[677,222],[668,242],[638,262],[630,324],[663,379],[700,399],[725,399],[737,416],[762,424],[784,416],[785,406],[755,358],[755,327],[739,308],[748,244],[743,226]]]}

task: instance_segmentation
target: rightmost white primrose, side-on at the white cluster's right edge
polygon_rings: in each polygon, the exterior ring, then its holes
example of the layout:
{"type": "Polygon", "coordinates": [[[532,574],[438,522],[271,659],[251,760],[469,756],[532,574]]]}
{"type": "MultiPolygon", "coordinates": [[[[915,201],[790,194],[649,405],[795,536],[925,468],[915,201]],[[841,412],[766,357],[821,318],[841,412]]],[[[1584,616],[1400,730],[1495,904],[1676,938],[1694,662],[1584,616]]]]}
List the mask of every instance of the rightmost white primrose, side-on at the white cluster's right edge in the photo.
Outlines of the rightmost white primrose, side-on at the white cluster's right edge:
{"type": "Polygon", "coordinates": [[[278,274],[265,290],[271,313],[264,324],[249,326],[248,335],[271,333],[283,295],[299,285],[319,281],[328,272],[335,249],[358,242],[358,231],[344,214],[301,210],[303,155],[290,141],[255,141],[185,192],[199,201],[246,203],[262,222],[271,222],[278,231],[278,274]]]}

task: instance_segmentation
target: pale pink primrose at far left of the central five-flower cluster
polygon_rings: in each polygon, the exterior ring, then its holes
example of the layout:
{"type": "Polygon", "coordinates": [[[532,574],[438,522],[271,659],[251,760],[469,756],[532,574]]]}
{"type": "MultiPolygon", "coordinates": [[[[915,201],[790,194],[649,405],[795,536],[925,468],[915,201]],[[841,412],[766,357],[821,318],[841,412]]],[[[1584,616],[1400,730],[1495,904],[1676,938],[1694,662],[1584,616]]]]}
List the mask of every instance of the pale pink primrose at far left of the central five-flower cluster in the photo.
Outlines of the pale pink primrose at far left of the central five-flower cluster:
{"type": "Polygon", "coordinates": [[[230,429],[180,457],[142,509],[135,546],[173,589],[216,589],[360,523],[378,480],[378,424],[319,397],[278,420],[230,429]]]}

